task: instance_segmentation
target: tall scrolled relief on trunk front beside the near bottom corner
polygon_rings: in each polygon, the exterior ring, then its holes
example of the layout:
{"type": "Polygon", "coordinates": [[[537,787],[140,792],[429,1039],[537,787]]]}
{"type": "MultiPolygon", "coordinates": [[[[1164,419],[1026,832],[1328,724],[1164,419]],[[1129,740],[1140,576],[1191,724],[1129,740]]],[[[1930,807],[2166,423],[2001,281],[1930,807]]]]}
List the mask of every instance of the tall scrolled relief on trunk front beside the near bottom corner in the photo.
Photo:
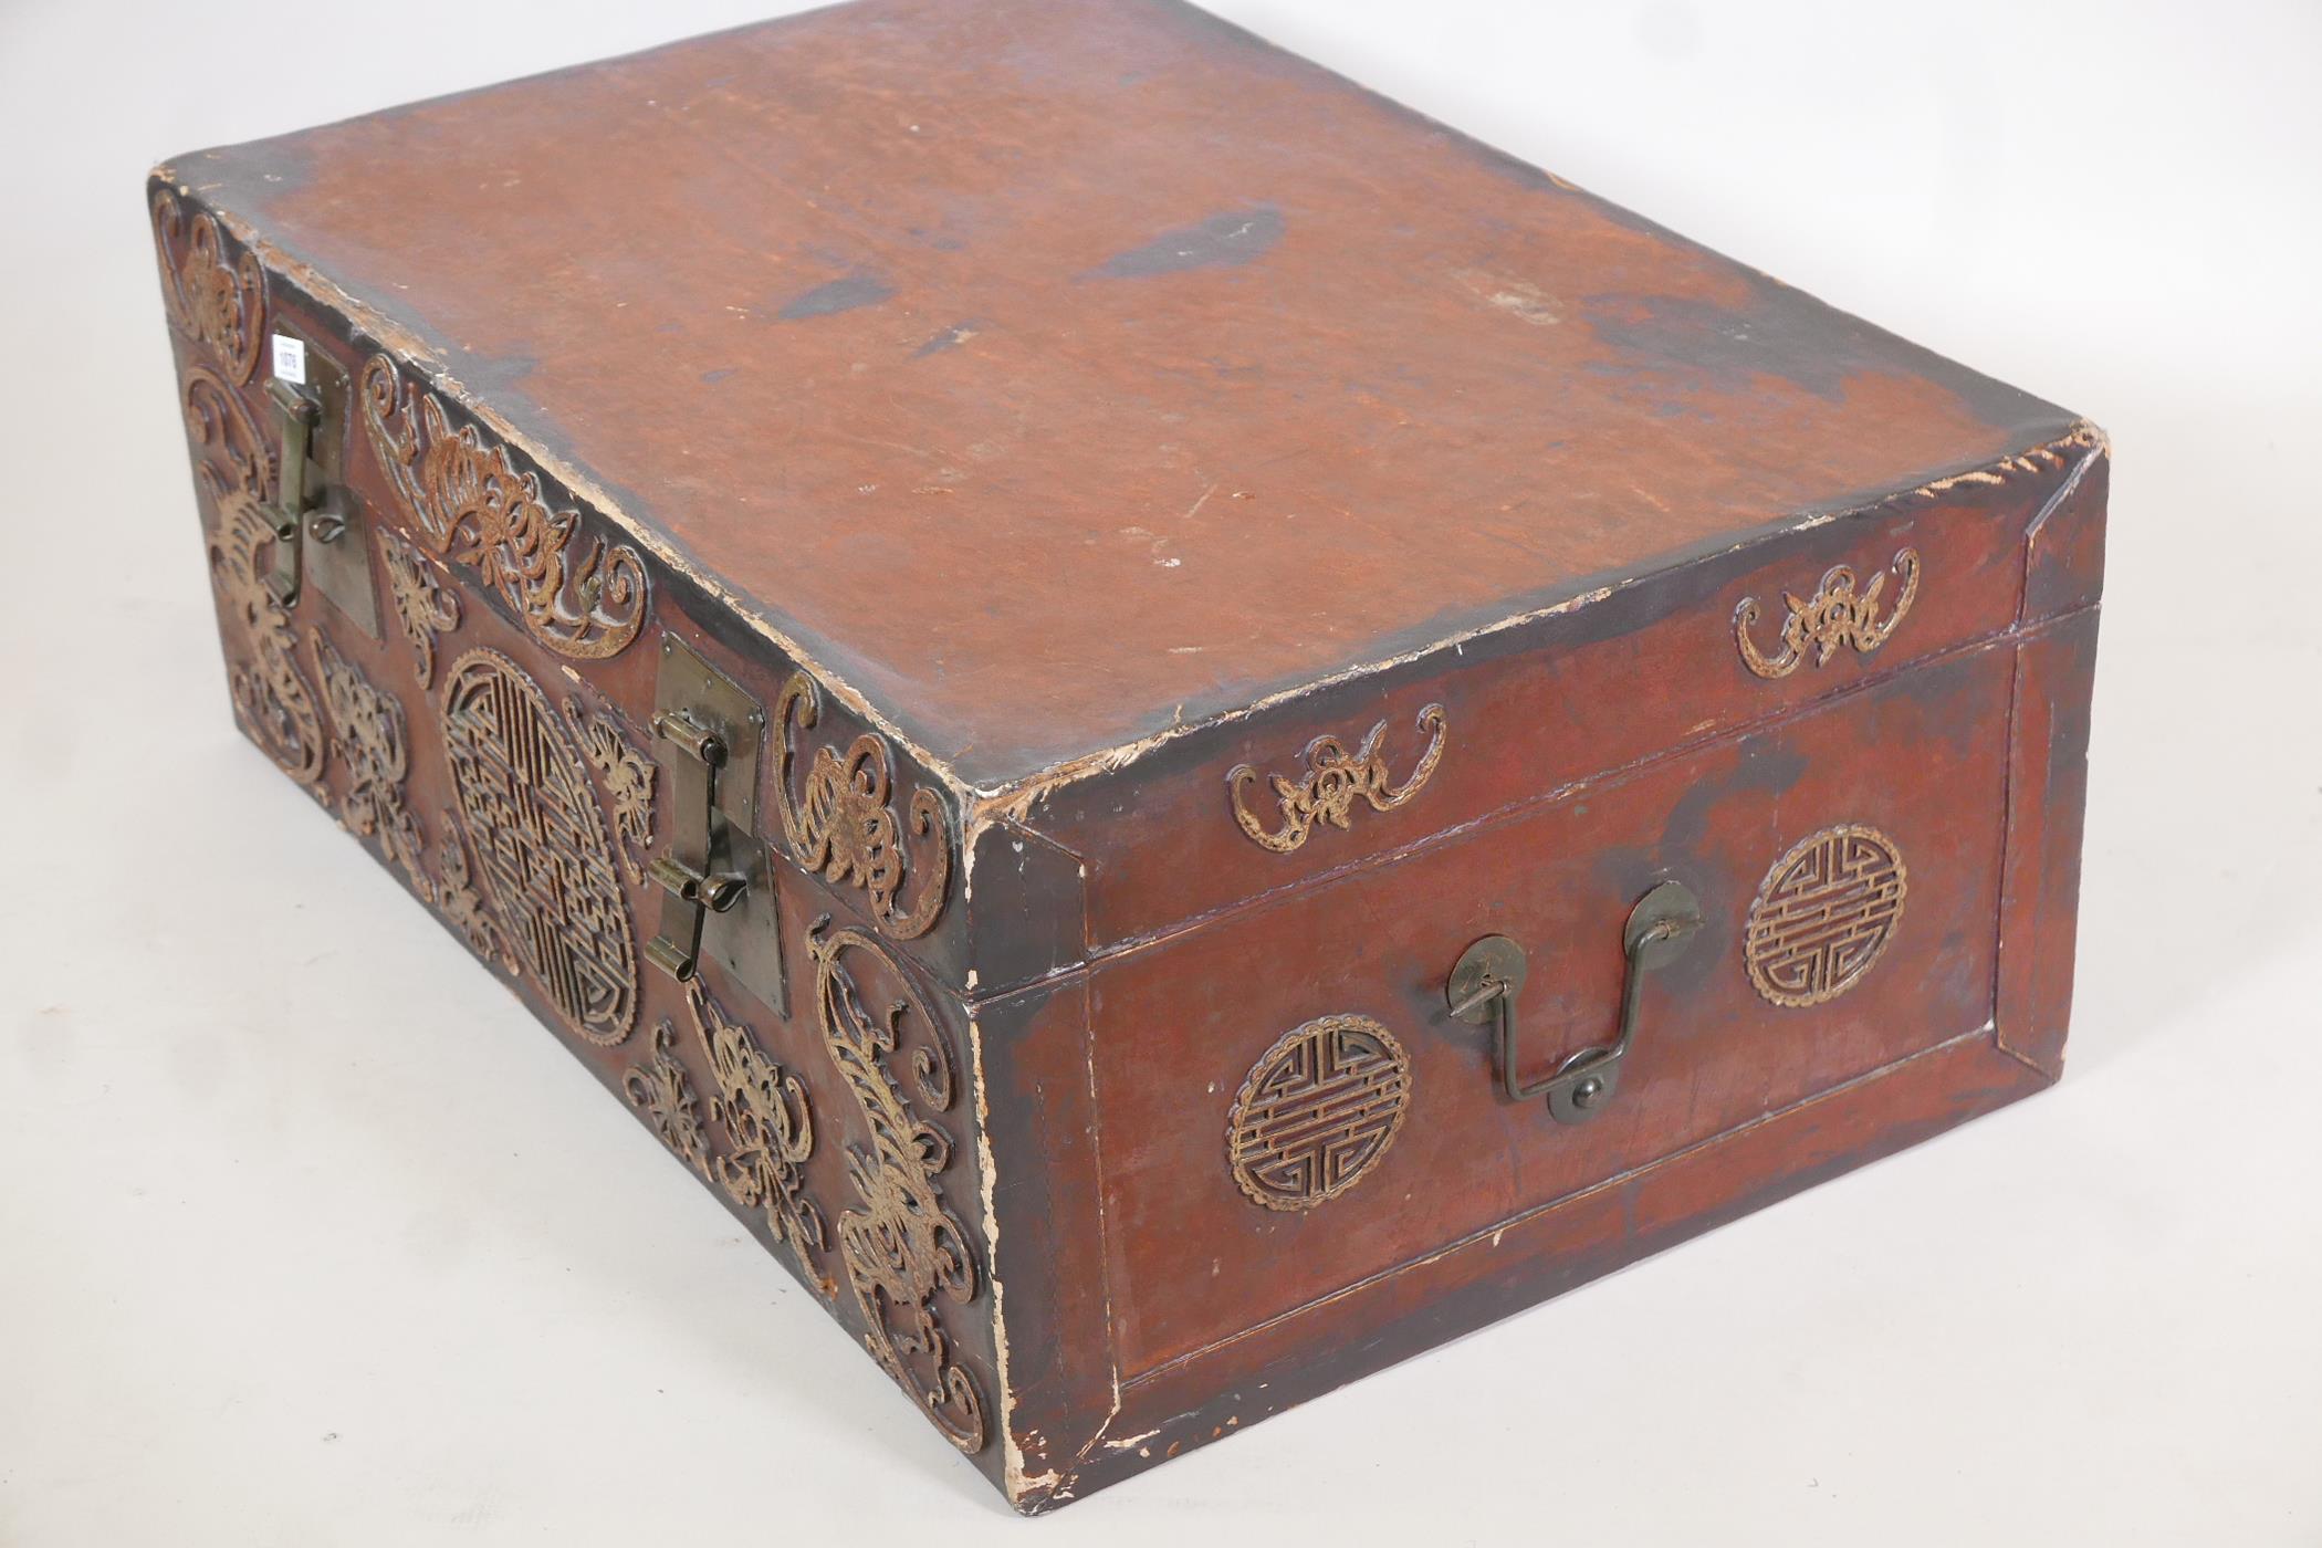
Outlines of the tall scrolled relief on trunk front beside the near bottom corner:
{"type": "Polygon", "coordinates": [[[848,1179],[859,1209],[838,1216],[838,1256],[864,1316],[864,1346],[952,1446],[975,1455],[987,1439],[982,1386],[954,1358],[936,1304],[938,1295],[973,1302],[980,1283],[975,1244],[938,1181],[952,1160],[952,1135],[920,1116],[889,1070],[906,1023],[922,1023],[924,1033],[910,1051],[913,1091],[936,1112],[947,1112],[957,1082],[943,1028],[908,989],[899,989],[885,1012],[864,1003],[845,961],[850,952],[861,952],[885,977],[903,982],[896,961],[871,935],[831,931],[829,919],[820,919],[806,942],[815,959],[822,1040],[871,1135],[868,1146],[848,1146],[848,1179]]]}

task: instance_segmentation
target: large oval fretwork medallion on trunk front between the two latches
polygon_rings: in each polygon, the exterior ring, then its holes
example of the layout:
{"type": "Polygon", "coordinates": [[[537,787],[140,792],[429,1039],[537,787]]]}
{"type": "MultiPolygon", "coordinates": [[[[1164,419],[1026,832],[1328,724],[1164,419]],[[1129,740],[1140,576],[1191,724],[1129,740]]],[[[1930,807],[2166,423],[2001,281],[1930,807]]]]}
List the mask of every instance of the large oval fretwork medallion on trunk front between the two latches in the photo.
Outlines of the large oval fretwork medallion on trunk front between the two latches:
{"type": "Polygon", "coordinates": [[[636,1021],[636,949],[597,794],[548,696],[497,650],[444,682],[444,752],[492,912],[532,982],[580,1037],[636,1021]]]}

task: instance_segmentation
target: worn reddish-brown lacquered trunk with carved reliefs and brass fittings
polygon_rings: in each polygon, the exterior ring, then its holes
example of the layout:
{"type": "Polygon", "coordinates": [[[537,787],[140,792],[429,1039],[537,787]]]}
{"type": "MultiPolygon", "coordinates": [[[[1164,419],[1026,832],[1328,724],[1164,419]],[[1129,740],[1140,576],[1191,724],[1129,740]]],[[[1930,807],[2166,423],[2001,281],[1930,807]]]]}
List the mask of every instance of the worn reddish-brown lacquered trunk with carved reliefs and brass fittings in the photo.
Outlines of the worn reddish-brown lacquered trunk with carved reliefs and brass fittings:
{"type": "Polygon", "coordinates": [[[244,731],[1019,1509],[2060,1072],[2101,436],[1198,12],[149,197],[244,731]]]}

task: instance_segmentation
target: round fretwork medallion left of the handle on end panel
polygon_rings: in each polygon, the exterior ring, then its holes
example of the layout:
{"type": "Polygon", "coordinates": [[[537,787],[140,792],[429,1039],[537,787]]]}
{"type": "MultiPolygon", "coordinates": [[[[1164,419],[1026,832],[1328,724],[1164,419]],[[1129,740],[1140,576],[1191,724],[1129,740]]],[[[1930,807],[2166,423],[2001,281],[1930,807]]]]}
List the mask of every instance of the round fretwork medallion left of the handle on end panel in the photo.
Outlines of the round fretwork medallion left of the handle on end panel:
{"type": "Polygon", "coordinates": [[[1370,1017],[1321,1017],[1275,1040],[1226,1114],[1233,1181],[1268,1209],[1312,1209],[1379,1163],[1412,1100],[1412,1061],[1370,1017]]]}

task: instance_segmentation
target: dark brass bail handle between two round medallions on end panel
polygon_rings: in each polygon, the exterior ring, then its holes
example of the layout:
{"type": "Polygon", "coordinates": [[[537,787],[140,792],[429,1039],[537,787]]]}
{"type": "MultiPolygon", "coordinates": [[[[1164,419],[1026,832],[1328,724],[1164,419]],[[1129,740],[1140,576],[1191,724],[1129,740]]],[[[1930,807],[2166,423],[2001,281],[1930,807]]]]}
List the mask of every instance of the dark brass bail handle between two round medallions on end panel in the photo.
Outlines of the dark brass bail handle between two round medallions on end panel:
{"type": "Polygon", "coordinates": [[[1523,991],[1528,963],[1523,947],[1507,935],[1486,935],[1451,968],[1444,1000],[1461,1021],[1493,1019],[1493,1042],[1500,1058],[1500,1091],[1512,1102],[1549,1098],[1549,1114],[1560,1123],[1586,1123],[1621,1088],[1621,1061],[1637,1042],[1637,1005],[1644,998],[1644,975],[1667,968],[1702,928],[1702,905],[1683,882],[1660,882],[1637,898],[1621,931],[1628,972],[1621,984],[1621,1030],[1600,1047],[1581,1049],[1556,1075],[1537,1082],[1516,1077],[1516,996],[1523,991]]]}

